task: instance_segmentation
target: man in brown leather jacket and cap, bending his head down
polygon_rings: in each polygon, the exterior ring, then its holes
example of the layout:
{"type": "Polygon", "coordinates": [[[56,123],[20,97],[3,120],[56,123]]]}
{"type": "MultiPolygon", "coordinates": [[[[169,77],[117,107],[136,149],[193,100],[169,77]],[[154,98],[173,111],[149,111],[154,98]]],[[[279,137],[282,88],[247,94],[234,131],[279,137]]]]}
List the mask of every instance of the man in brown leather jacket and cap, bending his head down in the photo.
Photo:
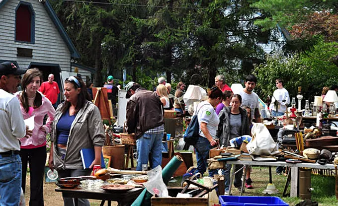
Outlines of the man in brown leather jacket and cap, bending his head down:
{"type": "Polygon", "coordinates": [[[140,84],[129,82],[125,89],[129,98],[126,112],[128,134],[135,133],[137,147],[136,170],[148,166],[149,152],[155,168],[162,163],[162,138],[165,132],[164,110],[156,92],[142,88],[140,84]]]}

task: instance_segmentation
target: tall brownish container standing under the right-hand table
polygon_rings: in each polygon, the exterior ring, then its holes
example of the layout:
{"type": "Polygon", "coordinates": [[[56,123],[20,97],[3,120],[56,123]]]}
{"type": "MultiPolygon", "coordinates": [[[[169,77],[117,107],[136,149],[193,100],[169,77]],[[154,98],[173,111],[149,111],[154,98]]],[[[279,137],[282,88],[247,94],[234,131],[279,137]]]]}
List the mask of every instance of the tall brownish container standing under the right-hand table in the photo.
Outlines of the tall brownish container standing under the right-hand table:
{"type": "Polygon", "coordinates": [[[299,198],[311,200],[311,169],[299,168],[299,198]]]}

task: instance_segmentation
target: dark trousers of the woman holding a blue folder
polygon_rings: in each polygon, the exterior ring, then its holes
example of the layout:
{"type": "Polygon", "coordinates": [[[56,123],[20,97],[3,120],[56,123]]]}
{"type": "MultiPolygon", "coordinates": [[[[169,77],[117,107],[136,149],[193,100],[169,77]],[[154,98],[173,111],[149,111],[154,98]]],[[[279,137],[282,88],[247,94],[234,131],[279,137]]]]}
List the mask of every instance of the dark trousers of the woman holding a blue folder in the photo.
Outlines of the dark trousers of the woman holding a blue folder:
{"type": "MultiPolygon", "coordinates": [[[[90,175],[91,170],[84,170],[84,169],[65,169],[65,170],[58,170],[59,178],[64,177],[79,177],[79,176],[86,176],[90,175]]],[[[63,198],[64,199],[64,206],[74,206],[73,198],[63,198]]],[[[79,198],[79,206],[90,206],[90,203],[87,199],[79,198]]]]}

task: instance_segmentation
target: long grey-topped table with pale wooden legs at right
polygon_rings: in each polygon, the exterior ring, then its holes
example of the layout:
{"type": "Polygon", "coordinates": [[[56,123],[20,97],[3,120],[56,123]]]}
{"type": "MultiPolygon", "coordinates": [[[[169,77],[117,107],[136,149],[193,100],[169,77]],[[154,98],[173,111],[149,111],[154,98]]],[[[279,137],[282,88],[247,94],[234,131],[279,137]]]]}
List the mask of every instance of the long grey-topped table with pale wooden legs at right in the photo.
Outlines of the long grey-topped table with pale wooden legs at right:
{"type": "MultiPolygon", "coordinates": [[[[235,176],[235,165],[255,165],[255,166],[288,166],[291,168],[291,191],[290,197],[297,197],[297,188],[298,188],[298,168],[299,167],[307,167],[313,169],[335,169],[334,164],[325,164],[321,165],[318,163],[286,163],[281,161],[276,162],[262,162],[262,161],[227,161],[227,164],[232,164],[231,178],[230,178],[230,186],[229,186],[229,194],[231,194],[231,186],[234,182],[235,176]]],[[[243,174],[245,175],[245,174],[243,174]]],[[[245,178],[245,176],[244,176],[245,178]]],[[[244,183],[244,181],[243,181],[244,183]]]]}

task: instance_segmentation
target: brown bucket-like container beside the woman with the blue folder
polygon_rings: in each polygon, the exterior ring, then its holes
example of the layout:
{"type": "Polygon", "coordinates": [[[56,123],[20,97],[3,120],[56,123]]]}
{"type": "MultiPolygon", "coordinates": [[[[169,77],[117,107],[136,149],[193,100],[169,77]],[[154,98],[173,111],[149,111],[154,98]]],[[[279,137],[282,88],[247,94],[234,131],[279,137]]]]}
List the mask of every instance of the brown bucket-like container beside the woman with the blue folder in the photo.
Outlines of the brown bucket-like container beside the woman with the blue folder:
{"type": "Polygon", "coordinates": [[[115,169],[124,169],[124,145],[117,144],[114,146],[103,146],[103,155],[112,156],[112,167],[115,169]]]}

